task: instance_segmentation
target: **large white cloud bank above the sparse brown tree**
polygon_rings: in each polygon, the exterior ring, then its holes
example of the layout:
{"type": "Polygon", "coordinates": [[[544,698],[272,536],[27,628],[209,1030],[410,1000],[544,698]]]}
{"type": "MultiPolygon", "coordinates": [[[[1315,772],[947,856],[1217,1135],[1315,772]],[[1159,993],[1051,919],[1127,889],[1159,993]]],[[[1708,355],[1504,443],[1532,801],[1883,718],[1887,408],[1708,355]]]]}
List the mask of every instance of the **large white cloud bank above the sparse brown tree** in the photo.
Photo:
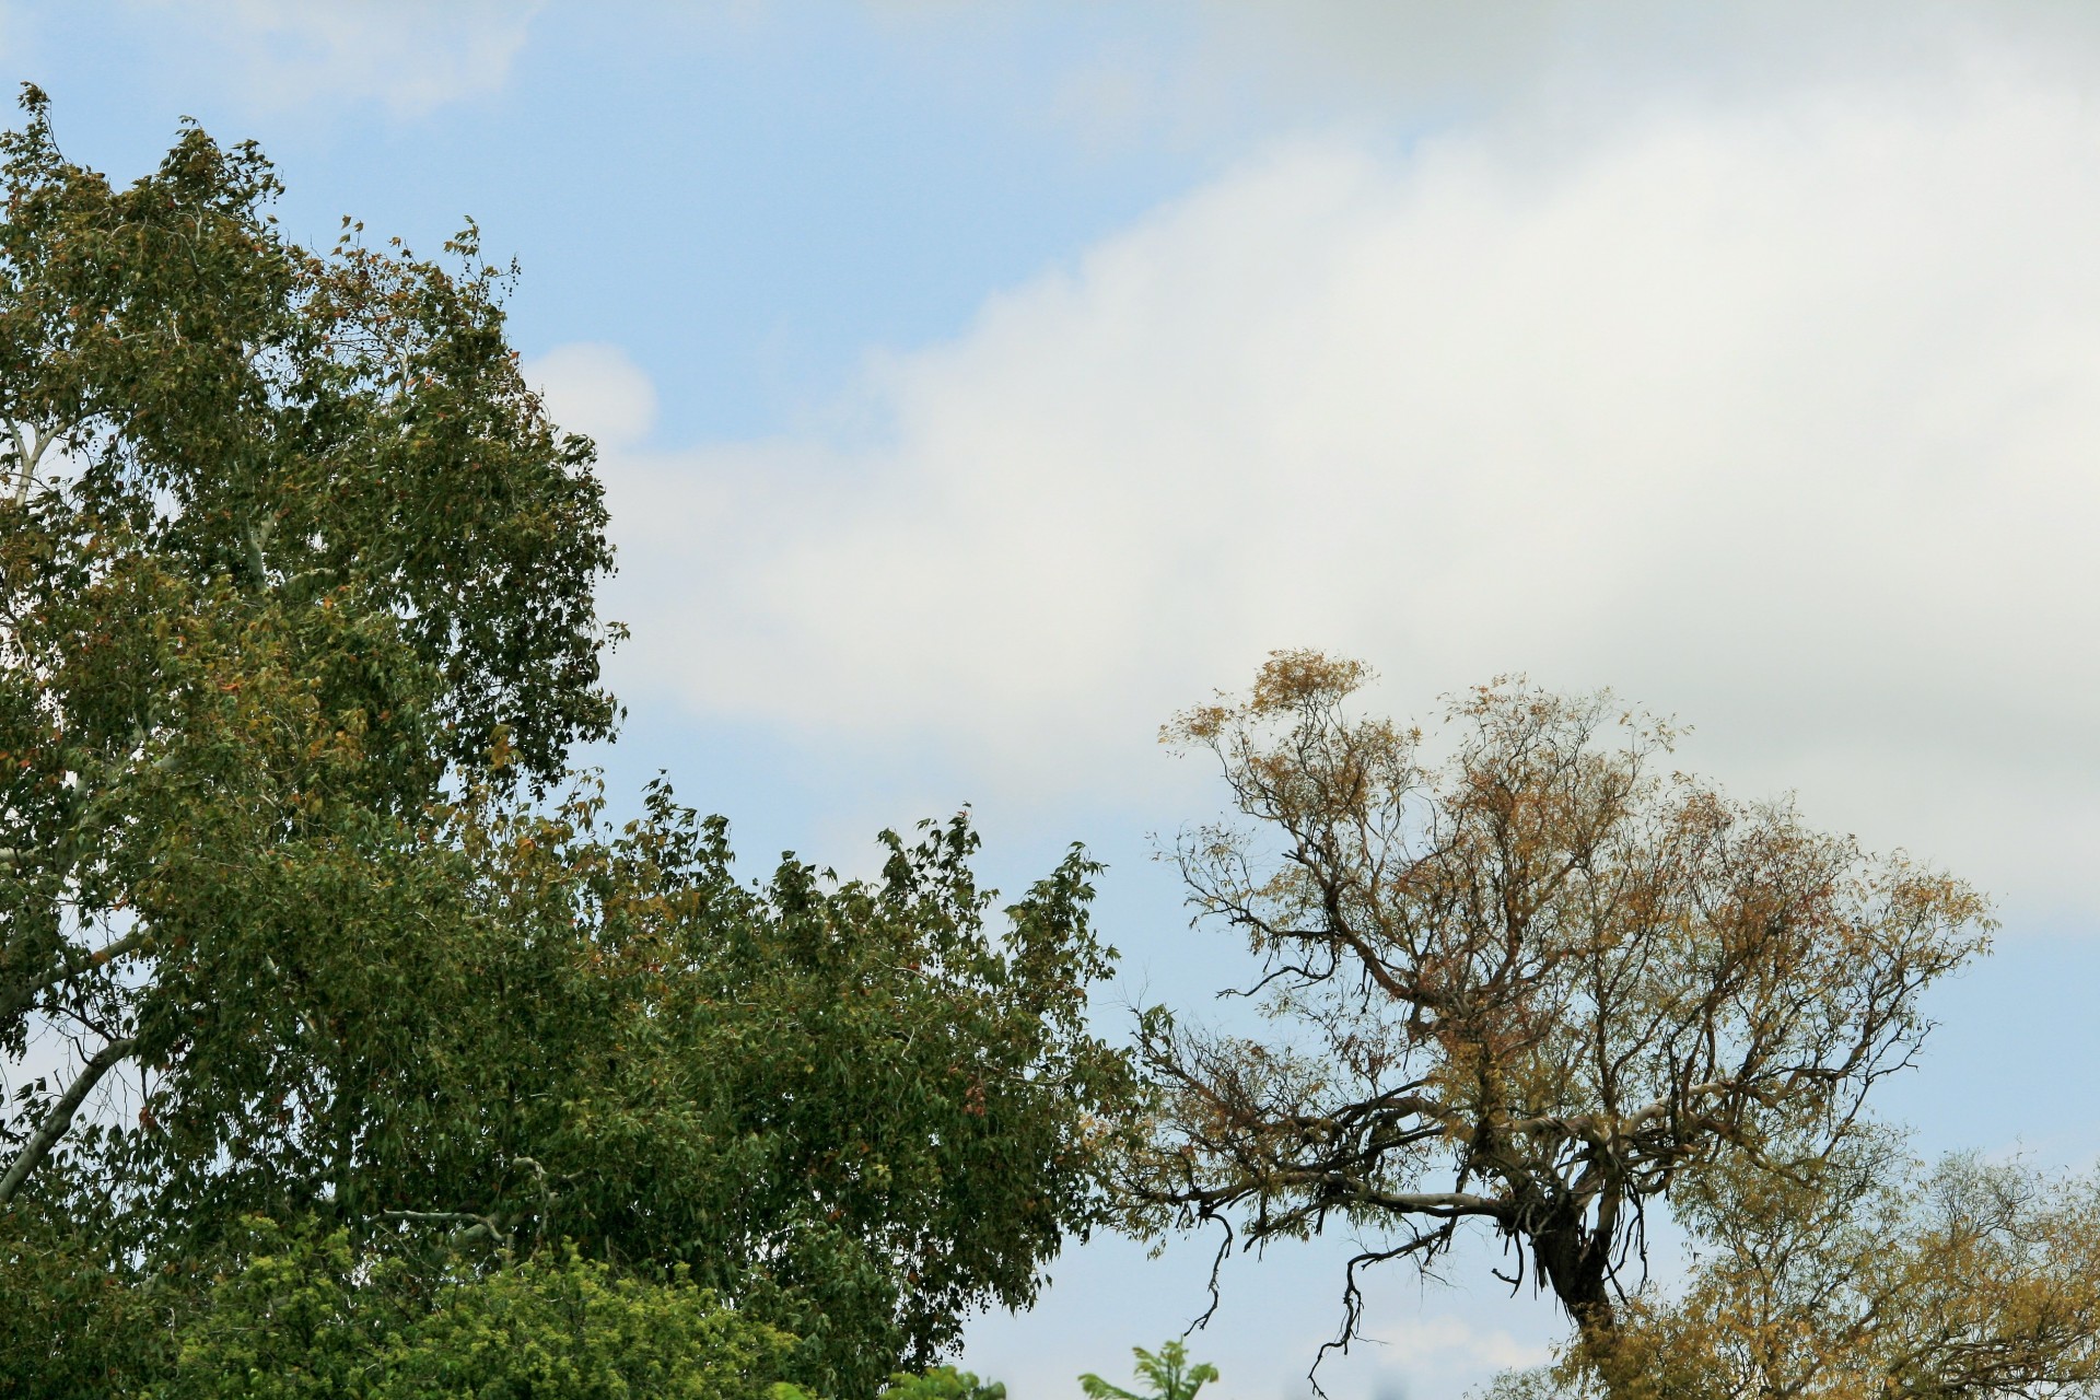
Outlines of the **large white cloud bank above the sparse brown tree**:
{"type": "Polygon", "coordinates": [[[1132,798],[1268,646],[1529,670],[2100,909],[2100,111],[1984,52],[1541,149],[1273,149],[874,363],[880,434],[615,453],[628,686],[1132,798]]]}

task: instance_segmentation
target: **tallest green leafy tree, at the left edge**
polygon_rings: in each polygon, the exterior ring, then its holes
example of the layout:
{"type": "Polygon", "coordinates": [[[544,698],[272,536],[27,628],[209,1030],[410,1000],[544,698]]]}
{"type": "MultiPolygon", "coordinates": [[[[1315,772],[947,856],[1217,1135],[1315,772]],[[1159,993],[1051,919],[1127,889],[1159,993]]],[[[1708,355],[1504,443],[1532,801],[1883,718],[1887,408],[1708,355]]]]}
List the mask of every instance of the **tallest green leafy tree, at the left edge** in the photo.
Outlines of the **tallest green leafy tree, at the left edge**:
{"type": "Polygon", "coordinates": [[[202,1089],[200,1119],[227,1083],[298,1115],[304,1066],[254,1052],[304,1010],[286,949],[342,940],[363,976],[363,924],[418,917],[391,877],[443,785],[548,781],[613,722],[590,445],[519,378],[472,233],[458,271],[311,254],[252,147],[191,128],[113,189],[25,107],[0,136],[0,1052],[80,1052],[13,1106],[0,1207],[120,1066],[202,1089]]]}

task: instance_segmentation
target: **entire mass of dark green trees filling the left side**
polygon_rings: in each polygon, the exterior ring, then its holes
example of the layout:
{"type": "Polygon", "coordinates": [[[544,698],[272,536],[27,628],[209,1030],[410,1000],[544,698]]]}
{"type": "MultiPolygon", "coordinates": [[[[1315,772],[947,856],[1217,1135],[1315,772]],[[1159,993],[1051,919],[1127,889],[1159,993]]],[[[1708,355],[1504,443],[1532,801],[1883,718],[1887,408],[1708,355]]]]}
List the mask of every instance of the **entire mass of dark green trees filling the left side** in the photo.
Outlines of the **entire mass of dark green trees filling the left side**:
{"type": "Polygon", "coordinates": [[[510,273],[472,229],[435,262],[357,225],[300,248],[262,155],[195,126],[111,187],[25,107],[0,1390],[166,1379],[191,1322],[235,1348],[210,1318],[271,1230],[353,1251],[321,1293],[418,1280],[418,1329],[441,1297],[529,1331],[542,1285],[676,1276],[827,1396],[1029,1301],[1102,1215],[1128,1079],[1082,1020],[1096,867],[1075,848],[1000,917],[962,819],[884,835],[876,879],[762,884],[668,785],[613,821],[569,768],[617,718],[594,449],[519,374],[510,273]],[[561,1251],[586,1272],[514,1274],[561,1251]]]}

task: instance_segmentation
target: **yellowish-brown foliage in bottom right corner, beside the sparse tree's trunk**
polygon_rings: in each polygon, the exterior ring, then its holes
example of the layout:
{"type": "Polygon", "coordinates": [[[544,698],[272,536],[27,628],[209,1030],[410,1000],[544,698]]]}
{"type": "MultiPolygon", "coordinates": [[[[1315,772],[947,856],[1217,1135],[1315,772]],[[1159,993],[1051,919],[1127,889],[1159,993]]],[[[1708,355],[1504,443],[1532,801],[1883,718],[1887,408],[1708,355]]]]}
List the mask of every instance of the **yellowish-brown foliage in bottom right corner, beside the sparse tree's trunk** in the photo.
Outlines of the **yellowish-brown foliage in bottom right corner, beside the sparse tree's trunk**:
{"type": "MultiPolygon", "coordinates": [[[[1812,1182],[1720,1173],[1678,1203],[1707,1257],[1640,1297],[1617,1392],[1640,1400],[2100,1394],[2100,1180],[1863,1133],[1812,1182]]],[[[1491,1400],[1606,1392],[1579,1350],[1491,1400]]]]}

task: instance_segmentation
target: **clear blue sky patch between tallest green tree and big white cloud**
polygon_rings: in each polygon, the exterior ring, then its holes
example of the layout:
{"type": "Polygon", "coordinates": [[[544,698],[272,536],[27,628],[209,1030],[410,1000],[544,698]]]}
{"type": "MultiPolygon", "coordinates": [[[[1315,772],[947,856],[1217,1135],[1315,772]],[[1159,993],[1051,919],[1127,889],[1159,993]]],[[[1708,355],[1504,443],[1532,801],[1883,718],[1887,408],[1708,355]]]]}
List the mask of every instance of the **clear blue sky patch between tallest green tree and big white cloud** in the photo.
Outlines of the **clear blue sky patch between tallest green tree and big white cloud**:
{"type": "Polygon", "coordinates": [[[1044,111],[1060,61],[1161,42],[1172,15],[939,23],[817,2],[792,21],[662,4],[374,19],[439,46],[466,27],[523,38],[489,76],[433,61],[430,82],[462,88],[443,97],[355,65],[332,80],[336,36],[281,8],[15,6],[8,57],[42,73],[67,145],[109,170],[149,162],[183,113],[267,136],[288,218],[315,239],[355,210],[435,246],[472,214],[527,267],[521,348],[617,342],[678,384],[666,441],[777,430],[869,346],[958,332],[989,288],[1208,164],[1186,145],[1088,141],[1044,111]],[[246,36],[214,42],[200,15],[246,36]],[[319,90],[254,71],[273,63],[319,90]]]}

